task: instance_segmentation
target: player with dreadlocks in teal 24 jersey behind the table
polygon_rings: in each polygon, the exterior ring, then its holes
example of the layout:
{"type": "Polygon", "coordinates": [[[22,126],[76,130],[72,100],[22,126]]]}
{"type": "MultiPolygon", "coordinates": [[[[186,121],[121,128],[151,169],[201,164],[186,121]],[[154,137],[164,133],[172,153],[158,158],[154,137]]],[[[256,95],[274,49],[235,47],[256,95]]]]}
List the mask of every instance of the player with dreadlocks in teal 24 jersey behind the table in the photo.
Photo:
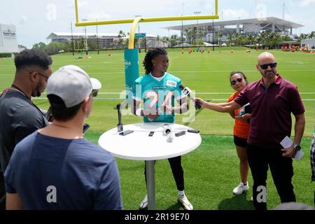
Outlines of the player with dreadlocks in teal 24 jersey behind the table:
{"type": "MultiPolygon", "coordinates": [[[[179,89],[181,79],[167,73],[169,57],[163,48],[154,48],[146,53],[144,58],[146,74],[134,81],[133,113],[144,117],[144,123],[174,123],[174,113],[185,113],[188,111],[186,96],[179,89]],[[174,105],[174,99],[179,106],[174,105]],[[143,109],[140,108],[144,100],[143,109]]],[[[186,210],[193,210],[193,205],[188,201],[184,192],[183,168],[181,167],[181,156],[169,158],[173,176],[179,191],[179,202],[186,210]]],[[[146,177],[146,167],[144,168],[146,177]]],[[[140,204],[139,209],[148,207],[148,195],[140,204]]]]}

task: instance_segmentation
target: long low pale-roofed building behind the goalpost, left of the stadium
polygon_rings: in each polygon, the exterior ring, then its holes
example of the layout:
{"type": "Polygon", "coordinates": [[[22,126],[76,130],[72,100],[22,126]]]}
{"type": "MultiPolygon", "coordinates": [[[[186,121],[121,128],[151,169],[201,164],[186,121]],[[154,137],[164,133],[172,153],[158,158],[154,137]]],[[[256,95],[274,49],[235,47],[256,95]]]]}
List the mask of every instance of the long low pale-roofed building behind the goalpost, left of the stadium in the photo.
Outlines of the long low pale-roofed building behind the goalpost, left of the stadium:
{"type": "MultiPolygon", "coordinates": [[[[71,42],[71,40],[74,40],[76,43],[76,40],[79,40],[81,38],[85,39],[85,33],[59,33],[59,32],[53,32],[51,33],[46,39],[48,41],[56,41],[59,43],[66,43],[71,42]]],[[[113,41],[118,40],[119,38],[128,39],[129,36],[126,37],[120,37],[119,34],[101,34],[101,33],[87,33],[86,38],[89,41],[92,41],[95,45],[97,44],[97,41],[99,43],[99,48],[101,49],[107,49],[111,48],[113,41]],[[98,38],[97,38],[98,36],[98,38]]],[[[158,43],[157,36],[148,35],[146,34],[146,45],[148,48],[154,47],[155,45],[161,45],[163,43],[158,43]]]]}

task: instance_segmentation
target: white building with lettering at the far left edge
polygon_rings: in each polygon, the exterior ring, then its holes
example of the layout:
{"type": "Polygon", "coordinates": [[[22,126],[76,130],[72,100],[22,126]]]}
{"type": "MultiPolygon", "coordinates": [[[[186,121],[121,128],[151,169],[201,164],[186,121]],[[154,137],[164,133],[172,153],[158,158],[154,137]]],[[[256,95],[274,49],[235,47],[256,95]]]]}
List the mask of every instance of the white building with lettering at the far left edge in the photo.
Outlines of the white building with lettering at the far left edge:
{"type": "Polygon", "coordinates": [[[0,53],[19,52],[15,25],[0,24],[0,53]]]}

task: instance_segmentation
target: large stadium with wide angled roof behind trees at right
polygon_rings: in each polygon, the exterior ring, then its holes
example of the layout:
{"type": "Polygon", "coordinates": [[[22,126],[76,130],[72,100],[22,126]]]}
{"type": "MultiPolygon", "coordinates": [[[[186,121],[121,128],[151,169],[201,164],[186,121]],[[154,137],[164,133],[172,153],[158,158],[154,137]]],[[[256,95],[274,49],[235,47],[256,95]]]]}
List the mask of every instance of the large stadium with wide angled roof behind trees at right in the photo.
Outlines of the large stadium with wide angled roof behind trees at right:
{"type": "Polygon", "coordinates": [[[190,41],[191,30],[200,29],[200,38],[203,41],[212,43],[213,35],[221,33],[221,41],[227,41],[229,34],[241,34],[253,36],[262,31],[269,31],[273,33],[279,33],[281,36],[290,36],[290,38],[296,39],[297,36],[293,34],[293,29],[298,29],[303,25],[288,20],[282,20],[274,17],[267,18],[253,18],[253,19],[240,19],[240,20],[226,20],[218,22],[205,22],[195,23],[190,25],[179,25],[174,27],[164,27],[168,30],[178,30],[183,32],[183,37],[186,42],[190,41]]]}

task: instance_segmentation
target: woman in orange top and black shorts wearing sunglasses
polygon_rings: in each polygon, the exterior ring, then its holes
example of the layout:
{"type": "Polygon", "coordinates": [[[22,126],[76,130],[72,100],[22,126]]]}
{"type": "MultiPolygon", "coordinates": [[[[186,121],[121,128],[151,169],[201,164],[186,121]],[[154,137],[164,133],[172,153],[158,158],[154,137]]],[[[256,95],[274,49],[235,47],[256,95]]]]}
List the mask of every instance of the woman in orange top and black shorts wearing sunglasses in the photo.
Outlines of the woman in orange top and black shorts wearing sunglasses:
{"type": "MultiPolygon", "coordinates": [[[[230,96],[228,102],[231,102],[239,95],[239,92],[248,85],[248,81],[243,72],[232,71],[230,73],[230,84],[236,92],[230,96]]],[[[241,183],[233,189],[233,194],[241,195],[241,193],[248,190],[248,161],[246,146],[249,133],[249,119],[251,118],[251,107],[249,104],[246,104],[240,109],[231,112],[230,116],[235,119],[234,143],[237,149],[237,155],[239,156],[239,172],[241,174],[241,183]]]]}

